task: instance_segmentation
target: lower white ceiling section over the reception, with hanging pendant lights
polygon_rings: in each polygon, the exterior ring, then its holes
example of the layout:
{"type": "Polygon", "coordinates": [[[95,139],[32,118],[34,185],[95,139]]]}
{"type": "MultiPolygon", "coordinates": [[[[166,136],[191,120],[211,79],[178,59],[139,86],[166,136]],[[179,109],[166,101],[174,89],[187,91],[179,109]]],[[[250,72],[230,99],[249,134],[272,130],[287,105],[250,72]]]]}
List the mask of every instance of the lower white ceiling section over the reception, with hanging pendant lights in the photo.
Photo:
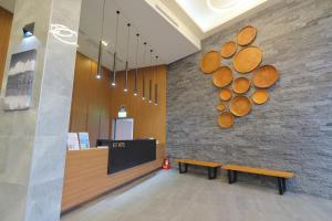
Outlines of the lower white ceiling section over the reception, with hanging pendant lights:
{"type": "MultiPolygon", "coordinates": [[[[81,24],[79,33],[79,51],[97,59],[97,42],[102,32],[103,0],[83,0],[81,24]]],[[[168,64],[200,50],[200,41],[195,35],[189,39],[144,0],[106,0],[103,40],[108,42],[103,55],[103,64],[112,67],[112,54],[115,51],[116,10],[121,11],[117,56],[122,61],[120,69],[124,69],[126,60],[127,23],[132,23],[129,39],[129,66],[134,67],[136,33],[139,33],[138,66],[149,65],[149,50],[153,49],[153,64],[158,55],[159,64],[168,64]],[[196,38],[196,39],[195,39],[196,38]],[[194,40],[193,40],[194,39],[194,40]],[[144,42],[147,42],[147,53],[144,63],[144,42]]]]}

